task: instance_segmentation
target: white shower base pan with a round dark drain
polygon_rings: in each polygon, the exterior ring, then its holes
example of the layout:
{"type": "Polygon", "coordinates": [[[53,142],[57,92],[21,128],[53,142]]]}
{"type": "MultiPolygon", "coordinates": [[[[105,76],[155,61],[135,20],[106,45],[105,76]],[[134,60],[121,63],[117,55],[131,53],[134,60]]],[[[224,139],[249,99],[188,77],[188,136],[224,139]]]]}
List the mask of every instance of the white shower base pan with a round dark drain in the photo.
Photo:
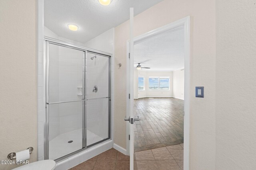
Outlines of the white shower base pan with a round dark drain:
{"type": "MultiPolygon", "coordinates": [[[[82,129],[63,133],[49,141],[49,159],[56,160],[62,156],[82,149],[82,129]]],[[[87,146],[92,145],[103,138],[87,130],[87,146]]]]}

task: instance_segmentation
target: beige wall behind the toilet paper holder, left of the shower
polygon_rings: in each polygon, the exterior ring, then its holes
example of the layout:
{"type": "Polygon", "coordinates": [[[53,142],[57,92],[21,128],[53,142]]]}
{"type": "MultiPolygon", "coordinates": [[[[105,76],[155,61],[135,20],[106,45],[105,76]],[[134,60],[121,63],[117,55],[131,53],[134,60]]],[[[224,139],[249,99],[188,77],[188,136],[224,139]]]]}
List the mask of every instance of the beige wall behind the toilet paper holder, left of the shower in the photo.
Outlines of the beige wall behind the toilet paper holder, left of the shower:
{"type": "MultiPolygon", "coordinates": [[[[36,1],[0,1],[0,160],[34,147],[36,161],[36,1]]],[[[0,165],[0,169],[16,166],[0,165]]]]}

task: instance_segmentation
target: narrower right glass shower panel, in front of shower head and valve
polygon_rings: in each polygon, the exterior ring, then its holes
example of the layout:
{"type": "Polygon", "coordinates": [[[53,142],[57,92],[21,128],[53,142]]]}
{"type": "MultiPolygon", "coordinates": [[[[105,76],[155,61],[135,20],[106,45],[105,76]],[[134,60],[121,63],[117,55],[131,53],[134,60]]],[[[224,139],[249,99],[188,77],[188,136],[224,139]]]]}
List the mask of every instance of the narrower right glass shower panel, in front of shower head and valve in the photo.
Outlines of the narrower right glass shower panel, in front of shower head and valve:
{"type": "Polygon", "coordinates": [[[109,57],[86,56],[87,146],[109,138],[109,57]]]}

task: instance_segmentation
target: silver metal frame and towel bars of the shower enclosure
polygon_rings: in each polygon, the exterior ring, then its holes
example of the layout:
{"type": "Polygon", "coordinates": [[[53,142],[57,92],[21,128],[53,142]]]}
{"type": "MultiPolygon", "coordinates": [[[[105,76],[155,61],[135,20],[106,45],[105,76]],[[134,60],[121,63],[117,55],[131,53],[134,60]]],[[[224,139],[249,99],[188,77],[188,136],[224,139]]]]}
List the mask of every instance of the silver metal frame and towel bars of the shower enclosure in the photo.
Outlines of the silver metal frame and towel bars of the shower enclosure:
{"type": "Polygon", "coordinates": [[[59,45],[62,47],[67,47],[67,48],[71,48],[71,49],[76,49],[76,50],[80,50],[83,51],[84,55],[83,55],[83,96],[82,96],[82,100],[74,100],[74,101],[69,101],[69,102],[79,102],[81,101],[82,104],[82,149],[77,150],[75,152],[72,152],[66,156],[62,156],[58,159],[56,159],[56,162],[60,162],[66,158],[69,158],[75,154],[78,154],[80,152],[83,152],[84,150],[93,147],[94,145],[97,145],[99,143],[102,143],[103,141],[109,141],[111,140],[111,57],[112,54],[110,53],[106,53],[103,51],[99,51],[99,50],[95,50],[95,49],[90,49],[87,47],[83,47],[80,45],[75,45],[72,43],[68,43],[65,41],[61,41],[58,39],[53,39],[50,37],[44,37],[44,83],[45,83],[45,121],[44,121],[44,160],[49,159],[49,104],[58,104],[58,103],[67,103],[67,101],[65,102],[54,102],[54,103],[49,103],[49,44],[54,44],[54,45],[59,45]],[[93,98],[93,99],[86,99],[86,74],[85,74],[85,64],[86,64],[86,56],[88,55],[88,53],[92,53],[95,55],[101,55],[103,57],[108,57],[108,61],[109,61],[109,75],[108,75],[108,97],[104,97],[104,98],[108,98],[108,138],[107,139],[103,139],[102,141],[98,141],[92,145],[87,146],[86,145],[86,101],[87,100],[94,100],[94,99],[101,99],[101,98],[93,98]]]}

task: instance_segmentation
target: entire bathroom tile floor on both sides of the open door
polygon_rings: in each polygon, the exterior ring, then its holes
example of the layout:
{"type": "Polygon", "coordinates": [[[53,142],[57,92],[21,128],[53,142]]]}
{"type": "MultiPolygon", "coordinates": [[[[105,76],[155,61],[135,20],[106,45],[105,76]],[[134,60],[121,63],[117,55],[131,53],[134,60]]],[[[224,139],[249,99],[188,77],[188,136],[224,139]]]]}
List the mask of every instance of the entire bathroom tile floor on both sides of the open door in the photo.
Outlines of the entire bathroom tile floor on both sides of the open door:
{"type": "MultiPolygon", "coordinates": [[[[129,170],[130,156],[112,148],[70,170],[129,170]]],[[[134,170],[183,170],[183,144],[134,152],[134,170]]]]}

